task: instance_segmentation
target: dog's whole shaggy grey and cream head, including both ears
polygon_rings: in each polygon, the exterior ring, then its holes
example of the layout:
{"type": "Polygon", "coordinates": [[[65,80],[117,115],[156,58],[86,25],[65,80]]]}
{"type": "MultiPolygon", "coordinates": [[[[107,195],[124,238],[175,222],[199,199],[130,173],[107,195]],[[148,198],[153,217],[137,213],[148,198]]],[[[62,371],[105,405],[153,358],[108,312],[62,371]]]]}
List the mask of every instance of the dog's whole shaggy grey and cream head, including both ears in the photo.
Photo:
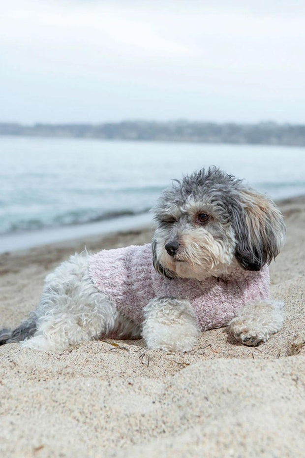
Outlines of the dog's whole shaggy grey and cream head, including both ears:
{"type": "Polygon", "coordinates": [[[260,270],[284,241],[274,203],[216,167],[174,183],[154,214],[153,264],[169,278],[203,280],[229,273],[237,262],[260,270]]]}

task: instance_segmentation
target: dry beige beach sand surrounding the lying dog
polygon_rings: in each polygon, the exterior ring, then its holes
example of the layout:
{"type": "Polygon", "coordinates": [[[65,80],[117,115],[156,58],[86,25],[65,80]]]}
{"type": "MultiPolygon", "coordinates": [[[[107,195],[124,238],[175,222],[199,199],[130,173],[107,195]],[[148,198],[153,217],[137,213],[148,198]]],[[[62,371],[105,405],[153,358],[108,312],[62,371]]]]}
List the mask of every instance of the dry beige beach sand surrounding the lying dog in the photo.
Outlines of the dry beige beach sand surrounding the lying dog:
{"type": "MultiPolygon", "coordinates": [[[[287,243],[271,266],[283,329],[256,348],[224,329],[187,354],[105,339],[61,354],[0,347],[1,457],[304,457],[305,197],[280,204],[287,243]]],[[[146,243],[150,229],[0,256],[0,324],[35,307],[69,254],[146,243]]]]}

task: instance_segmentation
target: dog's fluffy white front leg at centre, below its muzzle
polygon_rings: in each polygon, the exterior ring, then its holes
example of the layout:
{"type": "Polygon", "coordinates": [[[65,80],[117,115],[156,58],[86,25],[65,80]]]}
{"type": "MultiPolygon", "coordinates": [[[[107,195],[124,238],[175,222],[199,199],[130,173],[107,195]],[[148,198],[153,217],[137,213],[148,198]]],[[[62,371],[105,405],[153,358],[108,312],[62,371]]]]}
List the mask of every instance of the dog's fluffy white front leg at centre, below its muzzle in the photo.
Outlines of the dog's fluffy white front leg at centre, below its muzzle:
{"type": "Polygon", "coordinates": [[[162,297],[152,299],[144,308],[142,336],[148,348],[166,352],[189,352],[200,329],[188,300],[162,297]]]}

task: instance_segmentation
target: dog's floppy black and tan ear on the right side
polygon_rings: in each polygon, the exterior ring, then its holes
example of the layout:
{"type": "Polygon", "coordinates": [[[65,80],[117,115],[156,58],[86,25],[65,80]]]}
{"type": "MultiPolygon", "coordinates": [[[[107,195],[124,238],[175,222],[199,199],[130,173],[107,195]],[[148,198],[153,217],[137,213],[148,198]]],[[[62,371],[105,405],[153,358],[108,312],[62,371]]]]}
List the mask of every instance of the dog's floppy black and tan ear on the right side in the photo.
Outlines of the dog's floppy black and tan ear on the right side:
{"type": "Polygon", "coordinates": [[[246,270],[260,270],[278,255],[285,225],[272,200],[253,190],[243,190],[232,205],[237,246],[235,257],[246,270]]]}

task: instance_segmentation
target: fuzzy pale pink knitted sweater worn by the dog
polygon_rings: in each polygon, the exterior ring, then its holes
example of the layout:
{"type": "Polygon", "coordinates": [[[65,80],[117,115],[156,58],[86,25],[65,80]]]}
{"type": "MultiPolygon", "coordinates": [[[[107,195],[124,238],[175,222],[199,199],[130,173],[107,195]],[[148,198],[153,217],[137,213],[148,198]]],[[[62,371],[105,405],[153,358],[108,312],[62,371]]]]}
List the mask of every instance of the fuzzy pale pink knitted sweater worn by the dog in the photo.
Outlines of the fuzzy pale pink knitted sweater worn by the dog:
{"type": "Polygon", "coordinates": [[[151,244],[92,255],[89,273],[96,288],[137,325],[144,321],[143,307],[156,297],[188,299],[202,330],[225,326],[246,302],[269,297],[267,266],[259,272],[237,267],[230,275],[201,282],[170,280],[155,271],[151,244]]]}

